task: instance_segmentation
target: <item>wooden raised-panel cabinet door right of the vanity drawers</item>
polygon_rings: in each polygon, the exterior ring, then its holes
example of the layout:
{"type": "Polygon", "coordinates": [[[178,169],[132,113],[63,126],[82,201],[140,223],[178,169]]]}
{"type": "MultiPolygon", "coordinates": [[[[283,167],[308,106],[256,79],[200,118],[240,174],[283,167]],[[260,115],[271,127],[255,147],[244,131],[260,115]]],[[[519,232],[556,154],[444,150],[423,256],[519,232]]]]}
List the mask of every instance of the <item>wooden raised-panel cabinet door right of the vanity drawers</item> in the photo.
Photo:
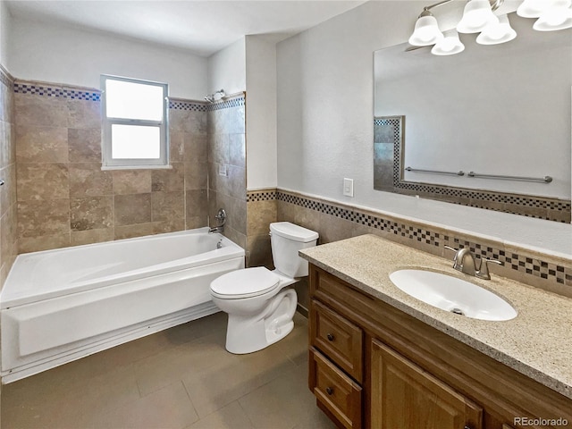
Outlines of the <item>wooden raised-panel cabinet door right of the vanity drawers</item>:
{"type": "Polygon", "coordinates": [[[382,342],[371,352],[373,429],[482,429],[483,408],[382,342]]]}

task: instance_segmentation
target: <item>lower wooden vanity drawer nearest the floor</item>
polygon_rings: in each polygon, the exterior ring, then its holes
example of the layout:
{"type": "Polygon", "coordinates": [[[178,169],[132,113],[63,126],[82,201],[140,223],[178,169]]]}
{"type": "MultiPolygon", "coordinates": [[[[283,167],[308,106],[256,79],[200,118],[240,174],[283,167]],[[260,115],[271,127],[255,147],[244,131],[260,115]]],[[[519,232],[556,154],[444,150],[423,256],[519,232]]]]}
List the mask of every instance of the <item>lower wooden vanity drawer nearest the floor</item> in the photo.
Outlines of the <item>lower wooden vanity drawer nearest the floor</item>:
{"type": "Polygon", "coordinates": [[[361,387],[319,351],[310,349],[310,390],[346,428],[361,427],[361,387]]]}

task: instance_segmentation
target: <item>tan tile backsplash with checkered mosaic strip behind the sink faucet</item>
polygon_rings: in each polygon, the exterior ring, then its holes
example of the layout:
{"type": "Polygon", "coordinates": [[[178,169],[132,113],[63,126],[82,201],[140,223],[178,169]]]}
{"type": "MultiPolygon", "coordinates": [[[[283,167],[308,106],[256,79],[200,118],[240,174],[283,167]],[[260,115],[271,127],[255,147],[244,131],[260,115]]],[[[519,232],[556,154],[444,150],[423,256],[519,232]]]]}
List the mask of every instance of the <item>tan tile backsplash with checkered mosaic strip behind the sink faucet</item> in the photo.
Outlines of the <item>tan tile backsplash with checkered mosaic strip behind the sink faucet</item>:
{"type": "MultiPolygon", "coordinates": [[[[309,198],[282,189],[277,189],[276,200],[279,221],[297,223],[318,231],[321,244],[372,233],[451,259],[450,250],[444,246],[467,247],[478,257],[497,259],[504,264],[492,265],[492,273],[572,297],[572,261],[569,258],[551,257],[525,248],[508,247],[499,241],[484,240],[470,234],[451,233],[424,223],[404,221],[398,217],[309,198]]],[[[303,297],[299,297],[299,301],[303,306],[307,304],[303,297]]]]}

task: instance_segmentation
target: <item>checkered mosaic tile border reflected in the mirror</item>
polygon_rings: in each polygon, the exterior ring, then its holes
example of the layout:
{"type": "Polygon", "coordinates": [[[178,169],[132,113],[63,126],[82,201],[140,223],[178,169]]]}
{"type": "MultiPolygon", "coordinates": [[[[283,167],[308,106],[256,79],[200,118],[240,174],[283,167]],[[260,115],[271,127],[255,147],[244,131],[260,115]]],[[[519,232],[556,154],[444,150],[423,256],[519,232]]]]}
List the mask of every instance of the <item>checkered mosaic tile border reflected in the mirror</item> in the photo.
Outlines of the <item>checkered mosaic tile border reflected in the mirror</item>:
{"type": "MultiPolygon", "coordinates": [[[[503,192],[484,191],[479,189],[468,189],[458,187],[447,187],[442,185],[433,185],[430,183],[416,183],[412,181],[402,181],[400,175],[401,163],[401,132],[400,127],[402,120],[398,117],[374,118],[374,125],[392,125],[393,126],[393,187],[395,192],[398,193],[420,193],[425,194],[422,197],[434,198],[439,200],[447,200],[447,198],[459,198],[454,201],[454,204],[461,206],[473,206],[484,208],[487,210],[503,211],[511,214],[519,214],[528,217],[537,217],[546,219],[553,222],[569,222],[569,215],[572,211],[572,202],[558,198],[538,198],[529,197],[526,195],[514,195],[503,192]],[[405,191],[405,192],[403,192],[405,191]],[[429,196],[427,194],[433,194],[429,196]],[[466,200],[466,201],[463,201],[466,200]],[[486,203],[499,203],[510,205],[510,208],[499,208],[489,206],[486,203]],[[526,213],[524,210],[518,210],[518,207],[534,207],[542,208],[551,211],[562,212],[564,216],[559,216],[558,219],[551,217],[550,214],[546,215],[533,215],[526,213]],[[564,220],[562,220],[564,219],[564,220]]],[[[451,201],[449,201],[451,202],[451,201]]]]}

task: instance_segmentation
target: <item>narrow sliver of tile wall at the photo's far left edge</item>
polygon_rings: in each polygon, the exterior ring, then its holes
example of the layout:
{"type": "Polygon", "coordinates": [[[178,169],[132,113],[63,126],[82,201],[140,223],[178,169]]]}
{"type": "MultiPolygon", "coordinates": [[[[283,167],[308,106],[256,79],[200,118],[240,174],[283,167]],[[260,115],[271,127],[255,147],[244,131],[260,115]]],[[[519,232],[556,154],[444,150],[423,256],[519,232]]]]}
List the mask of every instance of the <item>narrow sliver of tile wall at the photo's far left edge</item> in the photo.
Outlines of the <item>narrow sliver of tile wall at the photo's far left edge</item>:
{"type": "Polygon", "coordinates": [[[0,65],[0,289],[18,253],[13,78],[0,65]]]}

